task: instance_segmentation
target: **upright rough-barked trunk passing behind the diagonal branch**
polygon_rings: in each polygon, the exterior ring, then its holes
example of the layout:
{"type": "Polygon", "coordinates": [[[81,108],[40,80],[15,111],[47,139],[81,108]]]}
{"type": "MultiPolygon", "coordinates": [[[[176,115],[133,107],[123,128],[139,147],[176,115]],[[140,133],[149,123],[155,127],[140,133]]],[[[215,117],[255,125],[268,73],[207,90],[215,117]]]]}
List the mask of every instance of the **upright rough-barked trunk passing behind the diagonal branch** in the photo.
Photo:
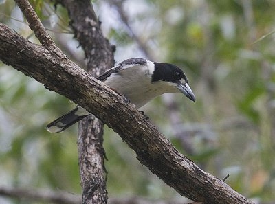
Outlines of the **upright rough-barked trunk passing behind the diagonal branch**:
{"type": "MultiPolygon", "coordinates": [[[[104,38],[90,1],[55,1],[69,13],[74,37],[88,60],[87,71],[93,76],[113,67],[113,52],[104,38]]],[[[81,120],[78,126],[78,157],[83,203],[107,203],[104,168],[103,126],[94,115],[81,120]]]]}

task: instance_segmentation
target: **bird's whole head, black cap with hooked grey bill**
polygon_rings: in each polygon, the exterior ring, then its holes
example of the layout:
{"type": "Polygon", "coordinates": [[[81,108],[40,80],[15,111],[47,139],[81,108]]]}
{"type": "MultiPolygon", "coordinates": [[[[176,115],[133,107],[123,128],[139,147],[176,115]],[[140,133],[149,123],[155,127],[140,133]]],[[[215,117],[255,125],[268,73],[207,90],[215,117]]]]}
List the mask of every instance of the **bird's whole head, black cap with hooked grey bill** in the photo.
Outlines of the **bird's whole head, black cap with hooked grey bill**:
{"type": "Polygon", "coordinates": [[[184,71],[176,65],[168,63],[154,63],[154,65],[155,70],[152,75],[152,83],[159,81],[168,82],[171,86],[175,87],[176,91],[184,93],[187,98],[195,102],[195,95],[188,85],[184,71]]]}

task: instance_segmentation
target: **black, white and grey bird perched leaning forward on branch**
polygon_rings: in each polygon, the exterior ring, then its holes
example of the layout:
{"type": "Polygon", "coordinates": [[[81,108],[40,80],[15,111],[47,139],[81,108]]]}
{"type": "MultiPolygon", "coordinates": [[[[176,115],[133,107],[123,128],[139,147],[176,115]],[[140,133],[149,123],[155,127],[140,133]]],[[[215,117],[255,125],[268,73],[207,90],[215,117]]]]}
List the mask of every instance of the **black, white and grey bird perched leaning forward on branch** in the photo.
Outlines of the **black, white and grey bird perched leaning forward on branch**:
{"type": "MultiPolygon", "coordinates": [[[[164,93],[183,93],[195,102],[184,71],[169,63],[157,63],[144,58],[130,58],[98,76],[98,80],[124,95],[137,109],[164,93]]],[[[47,131],[59,133],[90,115],[81,106],[47,124],[47,131]]]]}

